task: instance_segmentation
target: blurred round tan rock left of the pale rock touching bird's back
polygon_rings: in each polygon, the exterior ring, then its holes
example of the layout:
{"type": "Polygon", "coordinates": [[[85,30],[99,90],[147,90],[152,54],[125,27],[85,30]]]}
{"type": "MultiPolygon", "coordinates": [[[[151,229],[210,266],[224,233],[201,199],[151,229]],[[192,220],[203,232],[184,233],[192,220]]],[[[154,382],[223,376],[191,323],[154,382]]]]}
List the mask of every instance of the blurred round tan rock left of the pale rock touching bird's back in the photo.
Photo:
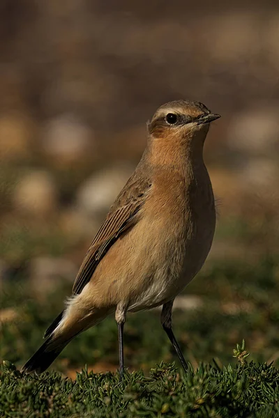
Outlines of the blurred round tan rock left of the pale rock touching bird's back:
{"type": "Polygon", "coordinates": [[[15,186],[15,208],[34,215],[45,215],[56,208],[56,187],[46,171],[31,171],[15,186]]]}

